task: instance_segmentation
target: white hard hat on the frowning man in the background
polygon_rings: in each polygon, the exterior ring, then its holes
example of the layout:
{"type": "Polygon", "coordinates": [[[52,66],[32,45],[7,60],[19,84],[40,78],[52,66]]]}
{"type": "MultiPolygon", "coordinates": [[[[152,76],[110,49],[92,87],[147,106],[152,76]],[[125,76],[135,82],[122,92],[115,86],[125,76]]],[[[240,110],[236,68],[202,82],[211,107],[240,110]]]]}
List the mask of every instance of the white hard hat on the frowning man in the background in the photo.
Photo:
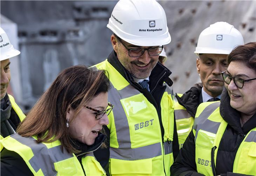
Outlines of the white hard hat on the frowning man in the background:
{"type": "Polygon", "coordinates": [[[238,45],[244,45],[242,34],[227,22],[216,22],[201,32],[194,53],[229,54],[238,45]]]}

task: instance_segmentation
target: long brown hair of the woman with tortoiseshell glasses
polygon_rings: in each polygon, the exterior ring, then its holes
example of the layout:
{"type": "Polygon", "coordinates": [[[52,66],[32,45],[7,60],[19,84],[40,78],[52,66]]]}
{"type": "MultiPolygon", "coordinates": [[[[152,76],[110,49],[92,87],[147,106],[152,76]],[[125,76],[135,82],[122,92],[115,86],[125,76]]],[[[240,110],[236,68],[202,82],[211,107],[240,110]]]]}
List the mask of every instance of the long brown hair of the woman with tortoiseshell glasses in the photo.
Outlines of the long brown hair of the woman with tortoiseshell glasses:
{"type": "MultiPolygon", "coordinates": [[[[66,127],[66,112],[69,107],[79,111],[102,92],[109,90],[108,73],[78,65],[66,68],[40,97],[17,129],[23,137],[36,135],[36,142],[60,140],[68,152],[77,153],[66,127]]],[[[72,120],[74,120],[72,118],[72,120]]]]}

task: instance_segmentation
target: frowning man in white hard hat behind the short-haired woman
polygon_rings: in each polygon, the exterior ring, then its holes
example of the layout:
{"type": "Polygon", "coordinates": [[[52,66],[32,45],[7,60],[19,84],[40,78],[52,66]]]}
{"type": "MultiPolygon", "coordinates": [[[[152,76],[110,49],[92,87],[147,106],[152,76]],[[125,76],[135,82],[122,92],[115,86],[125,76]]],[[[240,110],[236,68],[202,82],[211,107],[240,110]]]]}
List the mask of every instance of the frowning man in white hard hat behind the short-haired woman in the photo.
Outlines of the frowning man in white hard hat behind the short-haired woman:
{"type": "Polygon", "coordinates": [[[220,100],[224,86],[221,72],[227,70],[227,56],[238,45],[244,45],[243,36],[227,22],[216,22],[199,35],[195,53],[202,83],[195,84],[183,95],[176,94],[175,118],[180,148],[192,129],[199,104],[220,100]]]}

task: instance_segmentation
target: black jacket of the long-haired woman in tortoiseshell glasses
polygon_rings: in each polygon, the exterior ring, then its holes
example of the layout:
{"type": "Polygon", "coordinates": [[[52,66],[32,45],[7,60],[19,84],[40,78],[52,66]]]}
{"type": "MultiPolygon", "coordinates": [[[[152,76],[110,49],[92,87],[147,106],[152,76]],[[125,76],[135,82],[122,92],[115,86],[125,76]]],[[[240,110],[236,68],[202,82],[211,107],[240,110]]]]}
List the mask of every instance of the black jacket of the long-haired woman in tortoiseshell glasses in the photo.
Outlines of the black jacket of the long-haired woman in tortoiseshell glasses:
{"type": "MultiPolygon", "coordinates": [[[[94,144],[90,146],[80,143],[79,141],[73,141],[74,147],[81,151],[79,154],[76,154],[76,156],[78,156],[77,158],[80,164],[82,162],[81,161],[82,157],[85,156],[86,153],[89,153],[99,148],[101,144],[105,141],[105,139],[106,139],[106,135],[100,134],[99,136],[96,137],[94,144]]],[[[23,158],[19,154],[15,153],[14,151],[10,151],[5,148],[1,151],[0,166],[1,166],[0,175],[33,176],[31,170],[28,168],[23,158]]],[[[82,164],[81,166],[83,168],[82,164]]],[[[83,172],[85,174],[84,170],[83,172]]]]}

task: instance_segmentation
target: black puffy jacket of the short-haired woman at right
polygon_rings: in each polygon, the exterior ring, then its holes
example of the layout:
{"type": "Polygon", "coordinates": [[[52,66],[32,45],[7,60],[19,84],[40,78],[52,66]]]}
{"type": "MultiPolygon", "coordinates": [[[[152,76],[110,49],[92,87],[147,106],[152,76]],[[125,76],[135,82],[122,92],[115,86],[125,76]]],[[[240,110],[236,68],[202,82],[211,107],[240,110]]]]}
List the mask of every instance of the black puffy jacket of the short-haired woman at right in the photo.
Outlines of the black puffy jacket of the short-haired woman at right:
{"type": "MultiPolygon", "coordinates": [[[[240,113],[230,106],[230,97],[224,88],[221,95],[220,114],[228,123],[224,131],[216,158],[216,175],[238,176],[233,172],[233,164],[236,152],[245,135],[256,127],[256,114],[254,114],[243,127],[240,124],[240,113]]],[[[193,131],[183,144],[176,161],[171,166],[171,175],[173,176],[201,176],[197,173],[195,163],[195,136],[193,131]]]]}

